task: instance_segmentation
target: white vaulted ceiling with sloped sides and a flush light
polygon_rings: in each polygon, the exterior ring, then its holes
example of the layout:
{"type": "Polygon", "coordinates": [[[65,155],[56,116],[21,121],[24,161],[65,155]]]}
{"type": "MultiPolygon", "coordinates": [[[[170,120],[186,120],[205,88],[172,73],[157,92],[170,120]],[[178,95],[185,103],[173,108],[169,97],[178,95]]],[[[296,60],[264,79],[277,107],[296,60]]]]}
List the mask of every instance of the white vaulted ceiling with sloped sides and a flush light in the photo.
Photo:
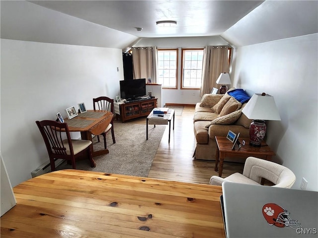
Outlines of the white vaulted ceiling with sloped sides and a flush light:
{"type": "Polygon", "coordinates": [[[221,36],[244,46],[318,32],[318,1],[1,1],[1,38],[123,49],[140,38],[221,36]],[[159,20],[177,21],[172,28],[159,20]],[[136,28],[143,28],[137,31],[136,28]]]}

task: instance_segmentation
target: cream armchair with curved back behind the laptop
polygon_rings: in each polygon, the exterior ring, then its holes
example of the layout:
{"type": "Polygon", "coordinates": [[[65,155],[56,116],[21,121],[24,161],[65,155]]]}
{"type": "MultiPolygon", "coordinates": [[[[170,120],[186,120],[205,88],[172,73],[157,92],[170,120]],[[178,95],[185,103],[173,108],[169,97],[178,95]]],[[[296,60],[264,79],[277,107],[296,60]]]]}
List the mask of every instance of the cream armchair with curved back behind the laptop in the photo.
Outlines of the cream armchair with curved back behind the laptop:
{"type": "Polygon", "coordinates": [[[290,188],[296,180],[294,173],[282,165],[255,157],[248,157],[244,165],[243,174],[235,173],[225,179],[212,176],[210,184],[221,186],[223,181],[231,181],[263,185],[262,178],[274,183],[274,187],[285,188],[290,188]]]}

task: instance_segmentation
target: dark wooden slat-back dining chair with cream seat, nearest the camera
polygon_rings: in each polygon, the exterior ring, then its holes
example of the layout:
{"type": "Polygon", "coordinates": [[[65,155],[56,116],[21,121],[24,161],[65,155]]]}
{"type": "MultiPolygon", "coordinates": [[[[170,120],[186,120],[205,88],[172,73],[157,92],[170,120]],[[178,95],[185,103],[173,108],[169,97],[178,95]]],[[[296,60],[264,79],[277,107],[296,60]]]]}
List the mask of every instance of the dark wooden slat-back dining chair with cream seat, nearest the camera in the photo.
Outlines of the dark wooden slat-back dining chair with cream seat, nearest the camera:
{"type": "Polygon", "coordinates": [[[55,171],[55,160],[64,159],[72,163],[76,169],[75,160],[79,156],[87,156],[91,167],[96,167],[92,158],[92,142],[90,140],[71,139],[67,123],[55,120],[36,121],[44,139],[50,158],[51,171],[55,171]]]}

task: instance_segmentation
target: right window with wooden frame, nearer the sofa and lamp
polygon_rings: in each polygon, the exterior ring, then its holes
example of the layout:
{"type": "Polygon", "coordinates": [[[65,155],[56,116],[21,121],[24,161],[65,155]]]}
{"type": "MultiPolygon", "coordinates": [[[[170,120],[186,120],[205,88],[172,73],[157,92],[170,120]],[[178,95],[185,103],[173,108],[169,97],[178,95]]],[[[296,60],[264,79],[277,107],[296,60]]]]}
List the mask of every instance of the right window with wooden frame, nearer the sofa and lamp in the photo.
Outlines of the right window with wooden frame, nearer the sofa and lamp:
{"type": "Polygon", "coordinates": [[[200,88],[204,49],[182,49],[181,88],[200,88]]]}

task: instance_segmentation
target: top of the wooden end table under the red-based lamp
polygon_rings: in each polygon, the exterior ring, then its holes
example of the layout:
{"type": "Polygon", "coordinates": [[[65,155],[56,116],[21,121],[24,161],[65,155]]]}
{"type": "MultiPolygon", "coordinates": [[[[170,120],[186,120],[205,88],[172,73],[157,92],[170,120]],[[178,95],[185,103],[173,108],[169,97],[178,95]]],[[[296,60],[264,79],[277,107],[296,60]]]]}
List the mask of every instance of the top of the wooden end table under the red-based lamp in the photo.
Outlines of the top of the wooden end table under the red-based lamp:
{"type": "Polygon", "coordinates": [[[244,140],[245,145],[242,145],[241,148],[239,148],[239,146],[236,145],[235,149],[232,150],[233,143],[229,139],[227,139],[227,137],[216,136],[215,139],[221,152],[235,153],[236,155],[245,155],[248,153],[259,155],[275,155],[275,152],[273,152],[270,149],[270,147],[266,144],[265,141],[262,141],[261,147],[254,147],[249,145],[249,138],[239,137],[239,142],[242,143],[242,140],[244,140]]]}

